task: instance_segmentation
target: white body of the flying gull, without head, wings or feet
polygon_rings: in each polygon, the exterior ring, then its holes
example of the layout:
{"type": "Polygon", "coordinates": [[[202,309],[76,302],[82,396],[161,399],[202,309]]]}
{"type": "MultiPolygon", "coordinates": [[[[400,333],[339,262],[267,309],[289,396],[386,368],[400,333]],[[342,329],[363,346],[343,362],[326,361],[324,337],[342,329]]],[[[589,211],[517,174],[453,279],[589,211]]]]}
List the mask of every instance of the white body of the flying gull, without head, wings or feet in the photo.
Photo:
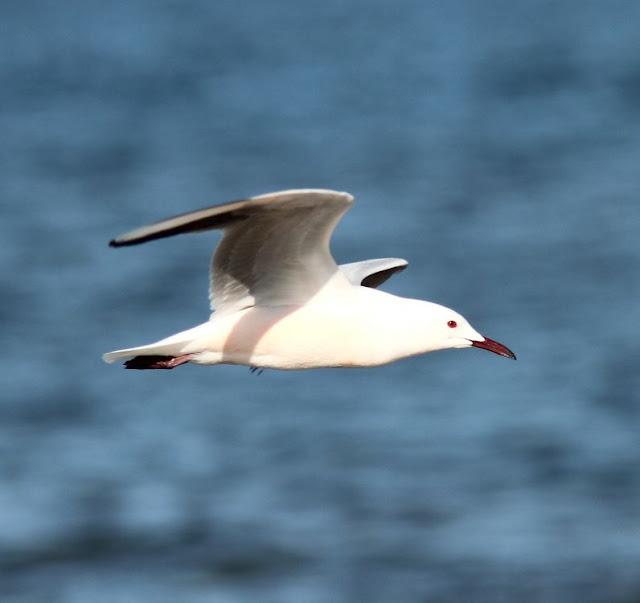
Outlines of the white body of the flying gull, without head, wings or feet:
{"type": "Polygon", "coordinates": [[[194,364],[276,369],[376,366],[433,351],[419,328],[422,314],[433,305],[349,286],[330,300],[319,294],[304,305],[252,307],[214,317],[151,344],[150,350],[129,350],[126,356],[148,351],[190,354],[194,364]],[[372,324],[377,325],[375,332],[372,324]]]}

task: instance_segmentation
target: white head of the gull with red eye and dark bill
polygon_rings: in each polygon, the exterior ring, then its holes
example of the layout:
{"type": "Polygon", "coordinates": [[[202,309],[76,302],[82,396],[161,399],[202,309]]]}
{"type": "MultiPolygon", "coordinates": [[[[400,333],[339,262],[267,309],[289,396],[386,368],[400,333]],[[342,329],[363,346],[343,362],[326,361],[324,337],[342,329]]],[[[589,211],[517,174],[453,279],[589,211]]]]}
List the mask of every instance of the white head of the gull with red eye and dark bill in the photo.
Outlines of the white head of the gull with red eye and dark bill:
{"type": "Polygon", "coordinates": [[[474,347],[505,358],[516,359],[516,355],[507,346],[478,333],[469,321],[455,310],[429,303],[428,315],[429,337],[434,342],[434,349],[474,347]]]}

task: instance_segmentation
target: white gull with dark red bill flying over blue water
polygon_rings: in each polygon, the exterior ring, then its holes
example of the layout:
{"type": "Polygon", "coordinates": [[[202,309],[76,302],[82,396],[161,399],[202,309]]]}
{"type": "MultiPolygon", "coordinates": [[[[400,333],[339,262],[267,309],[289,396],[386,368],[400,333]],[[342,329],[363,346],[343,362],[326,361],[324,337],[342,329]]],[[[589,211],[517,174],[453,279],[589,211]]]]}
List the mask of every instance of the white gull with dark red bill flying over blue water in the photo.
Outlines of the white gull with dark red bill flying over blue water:
{"type": "Polygon", "coordinates": [[[376,289],[407,262],[338,266],[329,242],[353,197],[302,189],[182,214],[112,240],[112,247],[222,229],[211,260],[204,324],[155,343],[109,352],[130,369],[193,364],[309,369],[377,366],[447,348],[477,347],[515,359],[444,306],[376,289]]]}

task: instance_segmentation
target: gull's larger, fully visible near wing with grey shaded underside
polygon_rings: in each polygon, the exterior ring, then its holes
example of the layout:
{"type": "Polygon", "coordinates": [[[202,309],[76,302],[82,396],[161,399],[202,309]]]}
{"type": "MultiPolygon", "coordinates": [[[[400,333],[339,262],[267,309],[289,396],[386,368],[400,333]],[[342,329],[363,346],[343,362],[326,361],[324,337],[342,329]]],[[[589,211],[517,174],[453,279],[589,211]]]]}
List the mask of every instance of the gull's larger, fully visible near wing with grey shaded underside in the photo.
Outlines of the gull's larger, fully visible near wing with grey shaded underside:
{"type": "Polygon", "coordinates": [[[348,193],[289,190],[182,214],[128,232],[119,247],[186,232],[223,229],[211,260],[216,312],[302,304],[331,282],[349,287],[329,250],[334,227],[353,203],[348,193]]]}

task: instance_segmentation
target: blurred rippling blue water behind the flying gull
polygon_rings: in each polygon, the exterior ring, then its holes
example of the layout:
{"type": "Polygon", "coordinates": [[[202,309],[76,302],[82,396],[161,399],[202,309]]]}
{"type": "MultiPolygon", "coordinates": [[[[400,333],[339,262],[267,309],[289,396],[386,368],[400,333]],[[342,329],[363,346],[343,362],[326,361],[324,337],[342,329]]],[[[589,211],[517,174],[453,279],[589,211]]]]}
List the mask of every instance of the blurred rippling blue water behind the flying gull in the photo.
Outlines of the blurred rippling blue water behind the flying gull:
{"type": "Polygon", "coordinates": [[[640,4],[0,5],[0,601],[640,601],[640,4]],[[341,262],[477,350],[125,371],[208,316],[216,234],[347,190],[341,262]]]}

